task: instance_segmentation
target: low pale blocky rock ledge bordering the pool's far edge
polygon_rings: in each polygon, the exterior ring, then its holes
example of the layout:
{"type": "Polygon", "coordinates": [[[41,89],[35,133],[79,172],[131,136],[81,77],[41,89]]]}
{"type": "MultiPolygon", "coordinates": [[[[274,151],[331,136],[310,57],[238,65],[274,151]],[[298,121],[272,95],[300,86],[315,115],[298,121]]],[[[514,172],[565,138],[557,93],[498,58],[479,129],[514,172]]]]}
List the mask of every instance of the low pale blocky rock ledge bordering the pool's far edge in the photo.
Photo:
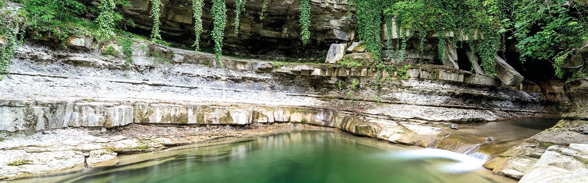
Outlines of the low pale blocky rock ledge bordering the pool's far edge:
{"type": "Polygon", "coordinates": [[[79,113],[81,116],[91,118],[94,115],[96,118],[102,117],[102,120],[92,121],[88,120],[89,118],[83,118],[79,120],[80,123],[74,125],[85,128],[0,132],[0,137],[3,138],[0,145],[0,157],[3,160],[0,162],[0,170],[2,170],[0,179],[79,170],[84,164],[83,154],[89,155],[85,160],[89,167],[114,165],[116,156],[108,153],[110,151],[116,153],[149,151],[211,138],[265,133],[272,128],[332,127],[392,143],[422,146],[435,143],[439,135],[449,130],[443,123],[397,121],[391,117],[358,116],[353,113],[300,107],[233,104],[182,108],[151,104],[139,105],[133,110],[137,111],[129,114],[134,114],[131,116],[134,122],[131,122],[136,124],[110,129],[102,127],[109,123],[99,122],[112,120],[109,118],[112,117],[109,116],[112,113],[95,116],[96,113],[81,112],[79,113]],[[222,126],[220,124],[239,125],[222,126]],[[96,126],[102,128],[92,130],[92,127],[96,126]],[[60,156],[60,161],[50,161],[51,157],[57,155],[60,156]]]}

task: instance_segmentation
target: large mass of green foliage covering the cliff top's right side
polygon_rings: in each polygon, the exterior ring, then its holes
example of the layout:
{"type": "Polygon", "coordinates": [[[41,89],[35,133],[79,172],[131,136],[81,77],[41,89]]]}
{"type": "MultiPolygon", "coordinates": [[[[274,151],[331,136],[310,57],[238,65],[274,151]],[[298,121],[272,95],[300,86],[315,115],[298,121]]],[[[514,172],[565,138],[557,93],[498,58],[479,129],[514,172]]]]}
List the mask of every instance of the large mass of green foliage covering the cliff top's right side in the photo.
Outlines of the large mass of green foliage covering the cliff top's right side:
{"type": "MultiPolygon", "coordinates": [[[[495,74],[499,47],[506,46],[502,44],[505,40],[514,40],[521,62],[547,60],[556,67],[557,76],[563,77],[563,62],[581,56],[579,48],[588,40],[588,11],[582,1],[354,0],[353,4],[359,38],[380,62],[385,46],[399,45],[395,57],[402,60],[406,40],[412,35],[420,39],[422,50],[426,36],[436,33],[439,50],[446,43],[467,45],[480,55],[486,73],[495,74]],[[398,39],[380,40],[379,27],[384,23],[386,35],[399,35],[398,39]],[[462,33],[469,40],[446,36],[449,32],[462,33]]],[[[445,60],[444,56],[440,51],[439,58],[445,60]]]]}

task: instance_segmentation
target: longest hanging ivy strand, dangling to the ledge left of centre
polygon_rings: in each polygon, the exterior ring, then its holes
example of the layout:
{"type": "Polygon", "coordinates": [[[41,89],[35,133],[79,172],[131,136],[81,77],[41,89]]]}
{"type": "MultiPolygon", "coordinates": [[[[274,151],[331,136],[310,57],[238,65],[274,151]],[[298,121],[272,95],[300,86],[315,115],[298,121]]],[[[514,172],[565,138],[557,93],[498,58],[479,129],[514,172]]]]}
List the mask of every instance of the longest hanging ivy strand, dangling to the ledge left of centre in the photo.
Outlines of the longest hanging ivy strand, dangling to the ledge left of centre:
{"type": "Polygon", "coordinates": [[[212,40],[215,42],[216,61],[222,66],[220,56],[222,56],[222,40],[226,26],[226,5],[225,0],[212,0],[212,40]]]}

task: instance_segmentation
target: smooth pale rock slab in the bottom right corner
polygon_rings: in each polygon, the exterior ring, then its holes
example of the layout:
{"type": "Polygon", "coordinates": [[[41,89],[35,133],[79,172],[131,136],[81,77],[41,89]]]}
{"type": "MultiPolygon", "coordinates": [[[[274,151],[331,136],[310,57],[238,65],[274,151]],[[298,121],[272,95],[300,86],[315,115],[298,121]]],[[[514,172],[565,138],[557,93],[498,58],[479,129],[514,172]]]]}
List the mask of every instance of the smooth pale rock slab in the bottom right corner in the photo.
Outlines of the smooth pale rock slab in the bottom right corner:
{"type": "Polygon", "coordinates": [[[588,182],[588,144],[553,145],[525,174],[520,183],[588,182]]]}

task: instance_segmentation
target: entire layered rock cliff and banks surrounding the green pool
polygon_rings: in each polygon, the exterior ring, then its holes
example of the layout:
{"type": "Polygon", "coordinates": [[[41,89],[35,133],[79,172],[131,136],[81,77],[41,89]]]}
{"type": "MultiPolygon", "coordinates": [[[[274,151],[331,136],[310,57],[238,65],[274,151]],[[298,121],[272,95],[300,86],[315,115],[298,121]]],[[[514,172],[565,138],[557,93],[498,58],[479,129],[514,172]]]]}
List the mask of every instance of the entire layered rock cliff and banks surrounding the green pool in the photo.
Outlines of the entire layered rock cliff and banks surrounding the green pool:
{"type": "MultiPolygon", "coordinates": [[[[162,36],[192,43],[192,2],[162,2],[162,36]]],[[[130,3],[116,10],[136,20],[130,32],[148,34],[151,1],[130,3]]],[[[228,11],[234,3],[226,1],[228,11]]],[[[347,1],[310,1],[306,47],[299,1],[269,3],[261,19],[263,1],[248,1],[237,35],[229,21],[225,52],[244,57],[276,51],[283,57],[325,50],[326,57],[216,60],[211,53],[133,39],[128,62],[121,43],[109,43],[116,54],[108,55],[92,36],[71,34],[66,46],[48,34],[24,42],[0,80],[0,179],[115,166],[119,154],[302,128],[450,150],[480,164],[489,158],[486,168],[520,182],[586,181],[587,79],[535,82],[498,55],[494,77],[482,72],[471,50],[460,60],[454,45],[437,50],[434,41],[420,45],[414,39],[407,40],[405,54],[411,65],[382,69],[355,38],[355,9],[347,1]],[[450,56],[449,66],[438,52],[450,56]],[[463,70],[463,61],[474,72],[463,70]],[[478,152],[494,143],[489,135],[455,133],[466,123],[551,116],[562,109],[569,113],[556,126],[494,154],[478,152]]],[[[203,8],[202,44],[212,46],[211,4],[203,8]]],[[[383,50],[384,59],[393,60],[394,50],[383,50]]]]}

